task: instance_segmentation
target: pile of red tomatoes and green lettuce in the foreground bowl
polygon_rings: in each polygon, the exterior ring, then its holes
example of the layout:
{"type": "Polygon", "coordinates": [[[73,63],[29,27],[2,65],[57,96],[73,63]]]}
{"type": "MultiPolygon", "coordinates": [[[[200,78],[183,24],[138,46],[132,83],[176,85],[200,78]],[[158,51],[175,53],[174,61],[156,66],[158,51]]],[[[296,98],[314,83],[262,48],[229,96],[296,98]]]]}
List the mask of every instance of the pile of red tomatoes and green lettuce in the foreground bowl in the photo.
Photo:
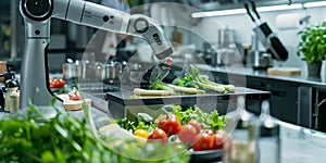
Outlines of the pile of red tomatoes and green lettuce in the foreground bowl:
{"type": "MultiPolygon", "coordinates": [[[[150,118],[149,118],[150,120],[150,118]]],[[[218,115],[215,110],[203,113],[199,108],[172,106],[171,112],[158,116],[155,120],[137,121],[118,120],[117,124],[145,142],[173,143],[175,148],[192,149],[193,151],[217,150],[223,148],[226,139],[225,115],[218,115]]],[[[145,143],[141,143],[141,147],[145,143]]]]}

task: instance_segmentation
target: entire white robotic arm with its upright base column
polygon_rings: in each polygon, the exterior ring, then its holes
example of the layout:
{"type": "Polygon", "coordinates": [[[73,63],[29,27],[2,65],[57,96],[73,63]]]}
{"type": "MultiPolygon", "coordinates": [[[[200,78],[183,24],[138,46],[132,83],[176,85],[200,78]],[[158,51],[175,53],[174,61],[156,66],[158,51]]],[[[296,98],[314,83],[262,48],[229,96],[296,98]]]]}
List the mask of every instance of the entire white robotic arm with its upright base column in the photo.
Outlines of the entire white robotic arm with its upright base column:
{"type": "Polygon", "coordinates": [[[21,0],[20,10],[25,18],[26,37],[21,71],[21,109],[29,108],[29,100],[37,106],[49,105],[54,96],[49,88],[46,54],[52,17],[143,38],[159,60],[173,53],[161,26],[145,15],[129,15],[83,0],[21,0]]]}

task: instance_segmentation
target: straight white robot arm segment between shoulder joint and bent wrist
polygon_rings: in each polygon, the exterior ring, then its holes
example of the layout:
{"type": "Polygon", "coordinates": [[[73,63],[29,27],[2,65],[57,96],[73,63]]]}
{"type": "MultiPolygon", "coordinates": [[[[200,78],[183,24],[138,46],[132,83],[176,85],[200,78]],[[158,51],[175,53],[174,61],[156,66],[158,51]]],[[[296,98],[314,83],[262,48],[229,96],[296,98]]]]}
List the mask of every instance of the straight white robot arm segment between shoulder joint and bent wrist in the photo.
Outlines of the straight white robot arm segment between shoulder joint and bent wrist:
{"type": "Polygon", "coordinates": [[[126,34],[128,13],[82,0],[55,0],[53,17],[95,28],[126,34]]]}

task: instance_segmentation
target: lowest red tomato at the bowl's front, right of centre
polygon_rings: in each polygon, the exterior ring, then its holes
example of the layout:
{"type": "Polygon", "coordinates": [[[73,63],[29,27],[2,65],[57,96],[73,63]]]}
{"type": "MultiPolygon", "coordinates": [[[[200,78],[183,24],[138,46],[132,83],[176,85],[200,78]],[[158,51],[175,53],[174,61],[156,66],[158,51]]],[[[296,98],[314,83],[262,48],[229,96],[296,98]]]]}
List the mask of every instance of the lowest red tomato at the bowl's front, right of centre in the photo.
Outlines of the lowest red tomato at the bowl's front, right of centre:
{"type": "Polygon", "coordinates": [[[195,151],[213,150],[214,148],[214,133],[210,129],[197,135],[197,141],[192,149],[195,151]]]}

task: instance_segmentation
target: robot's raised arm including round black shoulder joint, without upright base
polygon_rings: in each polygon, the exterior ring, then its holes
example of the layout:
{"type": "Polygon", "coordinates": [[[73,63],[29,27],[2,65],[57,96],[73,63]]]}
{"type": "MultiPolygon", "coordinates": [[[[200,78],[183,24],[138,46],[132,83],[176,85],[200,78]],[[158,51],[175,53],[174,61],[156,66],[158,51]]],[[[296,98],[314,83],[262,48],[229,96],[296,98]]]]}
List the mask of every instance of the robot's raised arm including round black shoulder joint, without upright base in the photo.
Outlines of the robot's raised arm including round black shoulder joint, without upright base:
{"type": "MultiPolygon", "coordinates": [[[[50,23],[57,17],[103,30],[134,35],[145,39],[158,59],[173,53],[173,48],[158,22],[83,0],[22,0],[21,11],[32,25],[50,23]]],[[[35,28],[29,32],[35,33],[35,28]]],[[[42,34],[42,33],[41,33],[42,34]]],[[[36,36],[38,37],[38,36],[36,36]]]]}

